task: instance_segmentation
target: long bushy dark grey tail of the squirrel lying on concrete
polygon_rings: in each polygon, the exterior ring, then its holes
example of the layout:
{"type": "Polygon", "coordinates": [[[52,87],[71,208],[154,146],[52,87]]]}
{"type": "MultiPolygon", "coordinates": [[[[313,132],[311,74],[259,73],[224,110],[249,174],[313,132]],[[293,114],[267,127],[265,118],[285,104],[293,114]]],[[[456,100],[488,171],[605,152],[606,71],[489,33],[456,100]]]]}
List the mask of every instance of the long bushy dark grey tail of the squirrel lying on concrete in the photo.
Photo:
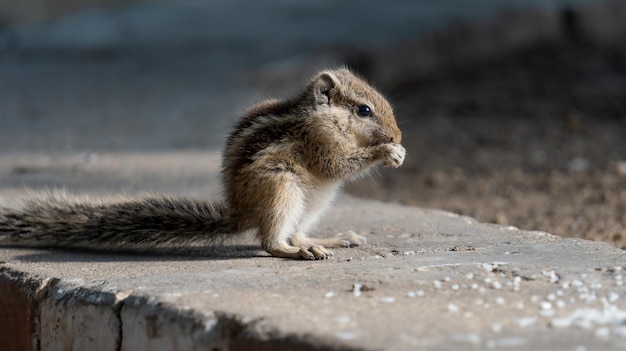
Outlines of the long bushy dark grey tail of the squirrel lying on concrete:
{"type": "Polygon", "coordinates": [[[202,246],[233,232],[228,206],[219,199],[93,201],[57,193],[0,209],[5,246],[145,251],[202,246]]]}

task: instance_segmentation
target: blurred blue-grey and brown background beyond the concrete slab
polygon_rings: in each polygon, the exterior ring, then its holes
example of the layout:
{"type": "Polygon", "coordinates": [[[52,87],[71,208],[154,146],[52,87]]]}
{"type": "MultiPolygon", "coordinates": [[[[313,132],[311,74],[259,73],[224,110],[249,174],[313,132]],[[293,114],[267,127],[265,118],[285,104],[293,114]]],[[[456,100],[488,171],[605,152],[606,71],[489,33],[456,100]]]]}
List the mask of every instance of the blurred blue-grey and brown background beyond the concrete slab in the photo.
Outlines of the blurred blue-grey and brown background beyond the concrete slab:
{"type": "Polygon", "coordinates": [[[0,188],[219,167],[248,105],[340,64],[408,151],[349,193],[626,249],[623,0],[0,0],[0,188]]]}

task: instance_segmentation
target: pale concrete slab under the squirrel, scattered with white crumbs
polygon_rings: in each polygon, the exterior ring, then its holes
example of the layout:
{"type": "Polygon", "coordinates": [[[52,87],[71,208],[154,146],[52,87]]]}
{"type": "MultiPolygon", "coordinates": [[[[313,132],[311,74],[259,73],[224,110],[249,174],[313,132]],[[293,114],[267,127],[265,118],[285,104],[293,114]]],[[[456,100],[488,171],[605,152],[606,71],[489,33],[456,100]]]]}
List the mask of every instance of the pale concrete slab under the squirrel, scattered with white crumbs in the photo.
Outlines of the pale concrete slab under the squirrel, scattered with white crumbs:
{"type": "MultiPolygon", "coordinates": [[[[42,159],[0,160],[0,203],[25,194],[9,186],[16,177],[34,191],[63,179],[93,196],[121,183],[126,193],[210,197],[218,189],[215,153],[103,154],[83,163],[59,155],[52,168],[27,167],[42,159]],[[163,165],[178,171],[153,176],[163,165]],[[99,187],[81,183],[85,172],[99,187]]],[[[369,243],[337,249],[329,261],[268,257],[251,236],[207,256],[0,249],[3,349],[626,347],[622,250],[344,196],[313,234],[346,230],[369,243]]]]}

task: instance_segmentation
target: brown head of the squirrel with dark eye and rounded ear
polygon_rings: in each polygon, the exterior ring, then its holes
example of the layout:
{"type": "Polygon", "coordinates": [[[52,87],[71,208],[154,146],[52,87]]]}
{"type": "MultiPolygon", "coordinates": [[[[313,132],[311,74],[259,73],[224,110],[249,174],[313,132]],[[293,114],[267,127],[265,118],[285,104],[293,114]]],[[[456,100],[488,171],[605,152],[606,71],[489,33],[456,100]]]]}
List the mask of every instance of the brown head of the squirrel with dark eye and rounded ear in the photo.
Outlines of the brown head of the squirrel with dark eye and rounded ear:
{"type": "Polygon", "coordinates": [[[335,118],[359,144],[399,144],[402,140],[389,102],[349,70],[322,71],[311,80],[307,91],[314,109],[335,118]]]}

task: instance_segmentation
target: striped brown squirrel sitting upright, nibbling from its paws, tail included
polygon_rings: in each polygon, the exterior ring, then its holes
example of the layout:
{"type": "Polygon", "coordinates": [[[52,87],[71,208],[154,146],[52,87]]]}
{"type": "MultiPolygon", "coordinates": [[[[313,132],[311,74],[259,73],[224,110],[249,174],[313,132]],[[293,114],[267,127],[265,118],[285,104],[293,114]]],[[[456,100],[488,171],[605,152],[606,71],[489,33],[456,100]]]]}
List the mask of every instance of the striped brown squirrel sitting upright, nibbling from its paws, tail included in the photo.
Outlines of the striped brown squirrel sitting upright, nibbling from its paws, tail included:
{"type": "Polygon", "coordinates": [[[223,152],[221,198],[33,197],[0,209],[0,245],[149,251],[256,229],[272,256],[327,259],[328,248],[365,238],[351,231],[311,238],[307,230],[344,182],[402,165],[401,139],[378,91],[346,68],[323,70],[297,96],[262,101],[239,120],[223,152]]]}

